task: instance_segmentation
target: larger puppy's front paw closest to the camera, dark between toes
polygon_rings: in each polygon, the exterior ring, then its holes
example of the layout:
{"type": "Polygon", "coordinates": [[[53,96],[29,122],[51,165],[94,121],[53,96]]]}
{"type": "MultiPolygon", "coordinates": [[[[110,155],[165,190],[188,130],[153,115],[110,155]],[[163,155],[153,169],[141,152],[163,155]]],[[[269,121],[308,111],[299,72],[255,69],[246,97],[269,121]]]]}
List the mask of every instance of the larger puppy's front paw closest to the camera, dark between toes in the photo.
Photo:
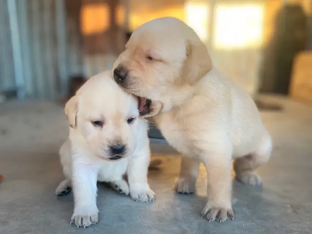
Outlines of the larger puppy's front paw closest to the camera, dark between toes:
{"type": "Polygon", "coordinates": [[[207,202],[206,206],[201,212],[203,218],[207,218],[209,222],[217,220],[222,223],[228,218],[234,220],[234,213],[230,205],[215,205],[214,203],[207,202]]]}

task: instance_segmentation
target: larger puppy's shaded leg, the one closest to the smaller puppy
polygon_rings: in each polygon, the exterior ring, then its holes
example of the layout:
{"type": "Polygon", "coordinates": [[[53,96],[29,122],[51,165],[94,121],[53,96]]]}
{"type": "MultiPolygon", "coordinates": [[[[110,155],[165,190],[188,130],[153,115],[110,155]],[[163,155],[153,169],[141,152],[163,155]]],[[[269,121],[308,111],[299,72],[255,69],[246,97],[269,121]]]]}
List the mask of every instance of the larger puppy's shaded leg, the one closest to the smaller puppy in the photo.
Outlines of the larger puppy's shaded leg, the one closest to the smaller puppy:
{"type": "Polygon", "coordinates": [[[195,193],[195,184],[199,172],[200,161],[196,158],[182,157],[181,171],[176,181],[176,192],[179,194],[195,193]]]}

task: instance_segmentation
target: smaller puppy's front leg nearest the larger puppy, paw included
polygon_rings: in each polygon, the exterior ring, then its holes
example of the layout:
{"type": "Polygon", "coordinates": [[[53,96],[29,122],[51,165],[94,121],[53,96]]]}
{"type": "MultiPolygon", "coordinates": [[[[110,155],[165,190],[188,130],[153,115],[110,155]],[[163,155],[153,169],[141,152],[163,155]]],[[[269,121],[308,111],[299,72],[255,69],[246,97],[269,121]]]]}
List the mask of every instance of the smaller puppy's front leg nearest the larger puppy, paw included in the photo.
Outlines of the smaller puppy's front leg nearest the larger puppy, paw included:
{"type": "Polygon", "coordinates": [[[128,165],[128,182],[130,196],[133,200],[154,201],[154,192],[147,182],[147,173],[150,163],[149,150],[142,150],[131,158],[128,165]]]}

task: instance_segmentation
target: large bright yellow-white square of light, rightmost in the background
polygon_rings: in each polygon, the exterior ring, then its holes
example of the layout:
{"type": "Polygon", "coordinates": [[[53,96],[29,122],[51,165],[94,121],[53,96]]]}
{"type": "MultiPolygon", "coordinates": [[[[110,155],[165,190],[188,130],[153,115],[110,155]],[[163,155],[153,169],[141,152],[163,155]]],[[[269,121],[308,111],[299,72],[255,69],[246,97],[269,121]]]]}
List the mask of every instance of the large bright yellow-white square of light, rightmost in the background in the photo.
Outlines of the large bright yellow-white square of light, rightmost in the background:
{"type": "Polygon", "coordinates": [[[242,49],[261,46],[264,5],[217,5],[213,45],[215,49],[242,49]]]}

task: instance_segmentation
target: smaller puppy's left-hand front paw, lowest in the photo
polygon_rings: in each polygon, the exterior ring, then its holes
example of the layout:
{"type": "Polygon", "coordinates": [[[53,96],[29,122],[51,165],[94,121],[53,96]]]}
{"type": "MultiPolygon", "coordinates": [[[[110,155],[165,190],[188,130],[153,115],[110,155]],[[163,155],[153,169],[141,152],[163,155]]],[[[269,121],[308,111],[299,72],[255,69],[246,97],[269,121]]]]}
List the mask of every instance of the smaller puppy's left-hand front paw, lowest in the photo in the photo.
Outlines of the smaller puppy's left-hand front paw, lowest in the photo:
{"type": "Polygon", "coordinates": [[[97,207],[79,207],[75,208],[70,224],[79,227],[89,227],[92,224],[98,223],[98,208],[97,207]]]}

